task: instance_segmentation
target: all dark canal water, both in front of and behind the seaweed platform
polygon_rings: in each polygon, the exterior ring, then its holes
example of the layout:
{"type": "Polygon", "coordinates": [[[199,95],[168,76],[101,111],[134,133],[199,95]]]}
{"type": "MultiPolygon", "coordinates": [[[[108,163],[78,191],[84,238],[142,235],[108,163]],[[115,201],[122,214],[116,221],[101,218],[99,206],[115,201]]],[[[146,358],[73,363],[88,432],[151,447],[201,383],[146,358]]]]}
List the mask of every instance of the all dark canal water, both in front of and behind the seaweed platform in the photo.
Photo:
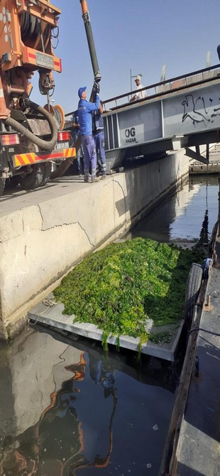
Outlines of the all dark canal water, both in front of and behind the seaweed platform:
{"type": "MultiPolygon", "coordinates": [[[[132,237],[192,242],[205,229],[205,239],[218,191],[217,178],[193,178],[132,237]]],[[[28,328],[0,349],[0,475],[157,476],[177,372],[177,364],[28,328]]]]}

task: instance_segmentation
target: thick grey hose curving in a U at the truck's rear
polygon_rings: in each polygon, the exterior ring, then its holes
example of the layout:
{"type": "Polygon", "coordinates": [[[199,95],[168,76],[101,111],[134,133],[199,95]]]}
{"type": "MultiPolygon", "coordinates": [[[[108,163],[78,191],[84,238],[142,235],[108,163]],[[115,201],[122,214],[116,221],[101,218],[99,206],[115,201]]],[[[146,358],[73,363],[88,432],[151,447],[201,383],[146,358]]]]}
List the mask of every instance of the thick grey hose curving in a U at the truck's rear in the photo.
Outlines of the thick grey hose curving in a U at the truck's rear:
{"type": "Polygon", "coordinates": [[[20,122],[16,121],[15,119],[12,119],[12,117],[8,117],[7,119],[4,119],[4,123],[7,124],[7,126],[11,126],[13,129],[15,129],[18,132],[21,132],[24,136],[26,136],[33,144],[36,144],[40,149],[46,150],[46,151],[52,151],[55,144],[57,143],[57,125],[55,124],[55,121],[51,114],[46,111],[43,107],[39,106],[38,104],[35,104],[35,102],[30,102],[30,106],[32,109],[35,109],[35,111],[40,112],[47,120],[50,125],[50,131],[52,134],[52,139],[50,141],[44,141],[43,139],[40,139],[40,137],[35,136],[33,132],[29,131],[29,129],[26,129],[20,122]]]}

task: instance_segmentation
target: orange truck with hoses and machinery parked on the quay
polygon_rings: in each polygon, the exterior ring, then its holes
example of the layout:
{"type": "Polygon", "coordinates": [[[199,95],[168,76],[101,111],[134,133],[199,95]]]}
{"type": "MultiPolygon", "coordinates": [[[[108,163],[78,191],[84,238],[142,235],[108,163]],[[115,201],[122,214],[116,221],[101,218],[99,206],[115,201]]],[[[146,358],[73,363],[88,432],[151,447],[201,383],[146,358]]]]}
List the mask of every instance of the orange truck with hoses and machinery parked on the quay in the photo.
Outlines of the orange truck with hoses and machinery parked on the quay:
{"type": "Polygon", "coordinates": [[[50,104],[53,71],[62,70],[52,44],[60,13],[49,0],[0,1],[0,195],[6,180],[24,190],[45,185],[53,163],[76,155],[62,107],[50,104]],[[30,99],[35,71],[44,107],[30,99]]]}

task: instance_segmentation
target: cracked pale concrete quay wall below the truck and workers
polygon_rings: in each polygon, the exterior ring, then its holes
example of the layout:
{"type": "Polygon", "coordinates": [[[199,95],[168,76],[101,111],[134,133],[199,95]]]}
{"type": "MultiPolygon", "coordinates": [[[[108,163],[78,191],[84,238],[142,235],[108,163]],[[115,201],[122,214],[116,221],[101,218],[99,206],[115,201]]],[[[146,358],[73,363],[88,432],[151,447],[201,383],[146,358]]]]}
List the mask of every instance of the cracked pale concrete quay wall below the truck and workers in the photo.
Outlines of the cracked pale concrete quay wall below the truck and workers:
{"type": "Polygon", "coordinates": [[[95,184],[72,183],[66,193],[45,188],[45,198],[1,212],[0,337],[18,332],[77,262],[128,232],[188,173],[181,150],[95,184]]]}

